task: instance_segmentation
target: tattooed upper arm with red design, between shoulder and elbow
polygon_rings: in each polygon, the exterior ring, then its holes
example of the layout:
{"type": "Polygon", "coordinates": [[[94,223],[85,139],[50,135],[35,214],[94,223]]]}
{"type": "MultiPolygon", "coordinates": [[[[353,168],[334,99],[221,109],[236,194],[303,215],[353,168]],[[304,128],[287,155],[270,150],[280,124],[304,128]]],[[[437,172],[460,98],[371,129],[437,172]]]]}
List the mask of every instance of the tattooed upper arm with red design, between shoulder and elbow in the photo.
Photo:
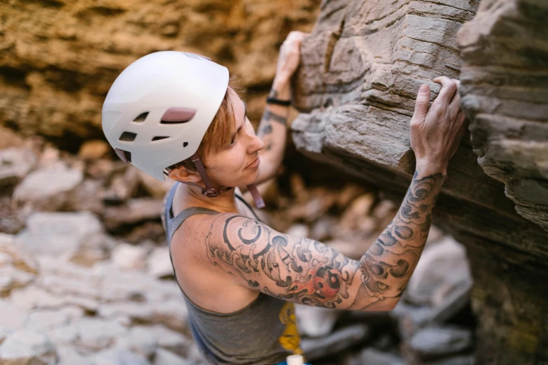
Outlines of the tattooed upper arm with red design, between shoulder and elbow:
{"type": "Polygon", "coordinates": [[[348,306],[356,295],[351,284],[359,280],[358,262],[323,243],[281,234],[248,217],[216,218],[206,248],[211,264],[280,299],[336,308],[348,306]],[[214,233],[219,231],[222,236],[214,233]]]}

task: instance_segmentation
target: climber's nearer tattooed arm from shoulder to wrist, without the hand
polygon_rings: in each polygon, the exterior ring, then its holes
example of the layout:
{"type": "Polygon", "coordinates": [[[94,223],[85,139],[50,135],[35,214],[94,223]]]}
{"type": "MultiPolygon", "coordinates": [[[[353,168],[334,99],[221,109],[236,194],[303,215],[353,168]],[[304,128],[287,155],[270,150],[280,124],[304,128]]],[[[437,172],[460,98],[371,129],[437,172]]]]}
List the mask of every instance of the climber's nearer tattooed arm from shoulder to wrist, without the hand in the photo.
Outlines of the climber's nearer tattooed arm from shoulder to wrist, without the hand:
{"type": "Polygon", "coordinates": [[[359,261],[233,213],[213,220],[205,239],[209,261],[237,284],[286,301],[391,310],[419,261],[444,178],[416,171],[398,214],[359,261]]]}

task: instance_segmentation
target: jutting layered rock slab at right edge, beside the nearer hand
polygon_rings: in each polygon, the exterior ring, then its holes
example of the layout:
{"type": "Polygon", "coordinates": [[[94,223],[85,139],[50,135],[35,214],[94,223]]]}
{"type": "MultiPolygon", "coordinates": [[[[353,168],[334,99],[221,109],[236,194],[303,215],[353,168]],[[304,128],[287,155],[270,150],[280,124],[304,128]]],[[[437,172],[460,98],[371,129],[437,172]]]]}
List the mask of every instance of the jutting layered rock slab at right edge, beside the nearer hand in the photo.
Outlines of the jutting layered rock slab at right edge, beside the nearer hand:
{"type": "Polygon", "coordinates": [[[546,1],[485,1],[458,45],[478,162],[519,215],[548,231],[547,15],[546,1]]]}

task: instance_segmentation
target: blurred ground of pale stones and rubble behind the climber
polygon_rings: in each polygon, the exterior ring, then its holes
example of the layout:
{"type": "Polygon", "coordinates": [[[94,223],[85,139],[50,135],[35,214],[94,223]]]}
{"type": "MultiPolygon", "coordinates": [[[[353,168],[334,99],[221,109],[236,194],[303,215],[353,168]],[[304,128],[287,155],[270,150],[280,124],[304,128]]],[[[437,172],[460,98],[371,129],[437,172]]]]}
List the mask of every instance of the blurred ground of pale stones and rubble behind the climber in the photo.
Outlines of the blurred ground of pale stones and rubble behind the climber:
{"type": "MultiPolygon", "coordinates": [[[[99,157],[106,142],[73,155],[41,137],[1,136],[0,359],[205,364],[160,222],[171,182],[99,157]]],[[[307,169],[261,185],[267,209],[258,213],[359,259],[398,206],[359,180],[307,169]]],[[[391,313],[297,306],[305,355],[314,364],[473,364],[471,284],[463,246],[432,227],[391,313]]]]}

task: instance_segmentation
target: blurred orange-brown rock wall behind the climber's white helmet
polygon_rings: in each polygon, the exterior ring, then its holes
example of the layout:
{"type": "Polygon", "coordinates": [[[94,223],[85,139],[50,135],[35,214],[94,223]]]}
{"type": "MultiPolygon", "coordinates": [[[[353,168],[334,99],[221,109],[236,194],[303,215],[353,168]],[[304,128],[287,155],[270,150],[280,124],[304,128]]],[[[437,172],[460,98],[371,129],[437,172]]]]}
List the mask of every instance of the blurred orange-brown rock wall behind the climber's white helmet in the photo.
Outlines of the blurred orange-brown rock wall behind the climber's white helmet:
{"type": "Polygon", "coordinates": [[[289,31],[311,29],[319,3],[1,3],[0,124],[71,148],[85,138],[103,138],[101,106],[108,88],[135,59],[160,50],[196,52],[227,66],[242,87],[262,92],[248,102],[250,117],[258,120],[279,46],[289,31]]]}

